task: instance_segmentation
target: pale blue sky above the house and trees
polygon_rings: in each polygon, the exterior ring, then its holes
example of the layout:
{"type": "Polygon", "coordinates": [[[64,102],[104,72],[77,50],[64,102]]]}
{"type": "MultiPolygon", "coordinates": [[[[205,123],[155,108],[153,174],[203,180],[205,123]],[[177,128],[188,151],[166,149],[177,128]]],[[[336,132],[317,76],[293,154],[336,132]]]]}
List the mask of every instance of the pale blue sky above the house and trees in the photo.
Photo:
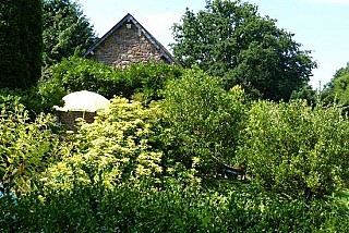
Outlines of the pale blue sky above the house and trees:
{"type": "MultiPolygon", "coordinates": [[[[173,41],[170,27],[180,22],[185,8],[197,12],[205,0],[80,0],[84,14],[99,36],[131,13],[164,46],[173,41]]],[[[303,50],[312,50],[317,62],[311,85],[330,81],[349,62],[349,0],[249,0],[262,16],[294,34],[303,50]]]]}

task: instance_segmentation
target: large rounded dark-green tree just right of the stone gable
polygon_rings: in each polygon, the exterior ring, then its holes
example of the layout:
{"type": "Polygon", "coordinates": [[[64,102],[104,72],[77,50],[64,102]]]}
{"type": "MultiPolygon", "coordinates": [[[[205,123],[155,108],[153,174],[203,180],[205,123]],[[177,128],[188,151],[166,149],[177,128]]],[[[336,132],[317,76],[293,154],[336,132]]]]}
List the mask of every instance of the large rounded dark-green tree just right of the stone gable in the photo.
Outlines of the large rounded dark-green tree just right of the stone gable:
{"type": "Polygon", "coordinates": [[[240,0],[207,0],[205,10],[186,9],[173,25],[173,53],[184,66],[224,77],[228,88],[240,84],[264,98],[288,100],[316,64],[275,22],[240,0]]]}

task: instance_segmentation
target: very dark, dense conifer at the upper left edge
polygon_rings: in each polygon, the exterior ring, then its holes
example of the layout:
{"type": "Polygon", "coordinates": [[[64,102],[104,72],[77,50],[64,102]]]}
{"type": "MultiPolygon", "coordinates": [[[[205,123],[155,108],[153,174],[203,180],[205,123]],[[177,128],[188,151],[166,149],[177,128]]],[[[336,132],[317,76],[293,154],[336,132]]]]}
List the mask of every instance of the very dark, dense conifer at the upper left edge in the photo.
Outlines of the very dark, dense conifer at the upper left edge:
{"type": "Polygon", "coordinates": [[[3,0],[0,3],[0,87],[36,84],[41,74],[41,0],[3,0]]]}

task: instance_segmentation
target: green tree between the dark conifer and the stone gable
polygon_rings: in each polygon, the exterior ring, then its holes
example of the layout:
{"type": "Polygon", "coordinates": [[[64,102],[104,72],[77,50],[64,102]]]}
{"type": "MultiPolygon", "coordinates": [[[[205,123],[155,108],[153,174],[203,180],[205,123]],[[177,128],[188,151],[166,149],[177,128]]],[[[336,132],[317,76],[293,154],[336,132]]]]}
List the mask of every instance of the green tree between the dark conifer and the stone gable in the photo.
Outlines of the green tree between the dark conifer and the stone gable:
{"type": "Polygon", "coordinates": [[[44,0],[44,64],[51,65],[96,41],[93,26],[73,0],[44,0]]]}

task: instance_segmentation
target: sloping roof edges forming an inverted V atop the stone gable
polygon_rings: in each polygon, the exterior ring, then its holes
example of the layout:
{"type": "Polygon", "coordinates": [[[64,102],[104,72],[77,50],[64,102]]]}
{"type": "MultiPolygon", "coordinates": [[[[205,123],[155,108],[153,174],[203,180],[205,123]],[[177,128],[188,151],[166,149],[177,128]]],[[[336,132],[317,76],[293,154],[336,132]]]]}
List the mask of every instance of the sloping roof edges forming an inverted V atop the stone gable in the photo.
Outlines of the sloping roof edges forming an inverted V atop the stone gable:
{"type": "Polygon", "coordinates": [[[132,22],[140,32],[144,34],[144,36],[148,39],[148,41],[156,48],[156,50],[166,58],[166,60],[169,63],[177,63],[176,59],[172,57],[172,54],[147,30],[145,29],[142,24],[140,24],[130,13],[128,13],[119,23],[117,23],[108,33],[106,33],[95,45],[89,47],[87,51],[84,54],[84,58],[86,58],[89,53],[93,54],[93,51],[101,44],[104,42],[111,34],[113,34],[121,25],[124,23],[132,22]]]}

